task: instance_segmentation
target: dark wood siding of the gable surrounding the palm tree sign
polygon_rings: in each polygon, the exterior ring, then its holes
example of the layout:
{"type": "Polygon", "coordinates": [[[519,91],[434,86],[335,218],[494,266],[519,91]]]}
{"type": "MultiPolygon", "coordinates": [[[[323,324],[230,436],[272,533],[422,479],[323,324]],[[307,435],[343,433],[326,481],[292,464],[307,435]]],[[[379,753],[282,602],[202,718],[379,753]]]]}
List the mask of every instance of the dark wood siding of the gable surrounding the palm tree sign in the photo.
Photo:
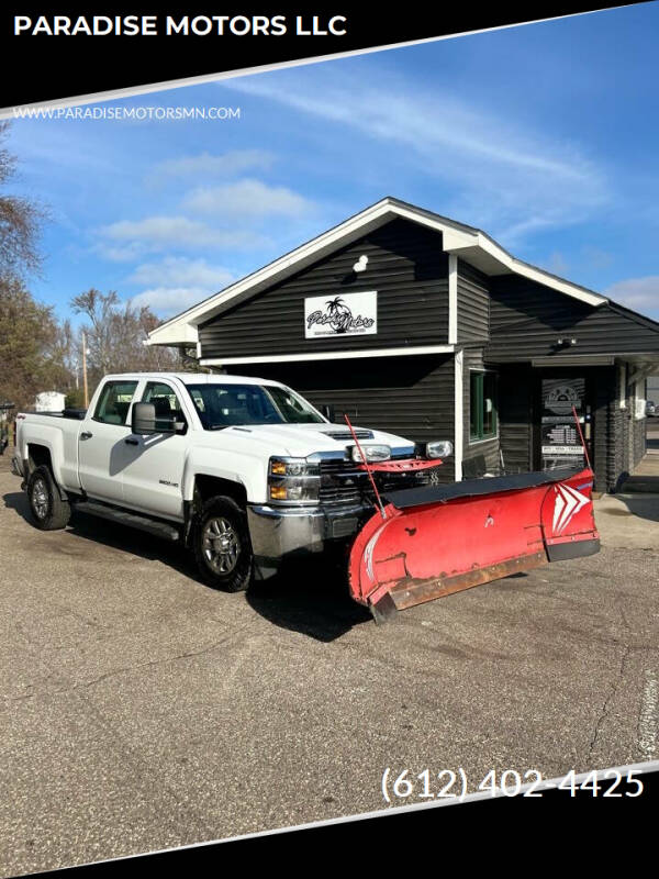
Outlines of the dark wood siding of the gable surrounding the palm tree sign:
{"type": "Polygon", "coordinates": [[[202,358],[331,353],[448,343],[448,256],[442,236],[394,220],[199,329],[202,358]],[[360,255],[365,272],[353,272],[360,255]],[[378,332],[304,337],[304,299],[377,290],[378,332]]]}

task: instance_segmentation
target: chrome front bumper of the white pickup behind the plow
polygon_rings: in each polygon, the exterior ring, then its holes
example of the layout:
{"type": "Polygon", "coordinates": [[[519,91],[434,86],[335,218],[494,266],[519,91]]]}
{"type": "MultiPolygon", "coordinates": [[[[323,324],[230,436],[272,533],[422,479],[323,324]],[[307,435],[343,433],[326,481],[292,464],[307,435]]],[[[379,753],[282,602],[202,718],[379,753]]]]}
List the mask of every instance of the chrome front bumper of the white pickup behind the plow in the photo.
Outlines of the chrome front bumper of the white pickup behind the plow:
{"type": "Polygon", "coordinates": [[[328,544],[351,537],[370,515],[370,505],[247,508],[256,579],[272,577],[283,560],[323,553],[328,544]]]}

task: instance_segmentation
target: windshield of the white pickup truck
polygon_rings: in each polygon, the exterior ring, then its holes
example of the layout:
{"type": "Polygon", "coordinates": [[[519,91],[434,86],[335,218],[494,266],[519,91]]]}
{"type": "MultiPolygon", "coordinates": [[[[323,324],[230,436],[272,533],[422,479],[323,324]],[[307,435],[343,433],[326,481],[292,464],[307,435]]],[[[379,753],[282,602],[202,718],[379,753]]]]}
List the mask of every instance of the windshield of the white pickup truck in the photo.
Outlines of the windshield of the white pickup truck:
{"type": "Polygon", "coordinates": [[[206,431],[241,424],[310,424],[324,419],[289,388],[275,385],[188,385],[206,431]]]}

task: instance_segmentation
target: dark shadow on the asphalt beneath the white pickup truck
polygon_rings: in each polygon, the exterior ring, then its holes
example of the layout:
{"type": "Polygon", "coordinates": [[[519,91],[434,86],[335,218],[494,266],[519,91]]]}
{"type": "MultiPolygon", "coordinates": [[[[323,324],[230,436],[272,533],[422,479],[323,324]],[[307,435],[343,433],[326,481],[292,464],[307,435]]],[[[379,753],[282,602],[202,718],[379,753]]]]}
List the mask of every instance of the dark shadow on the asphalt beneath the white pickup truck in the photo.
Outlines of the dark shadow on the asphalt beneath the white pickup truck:
{"type": "MultiPolygon", "coordinates": [[[[8,492],[2,499],[7,509],[14,510],[34,526],[24,491],[8,492]]],[[[149,561],[163,561],[201,583],[194,561],[179,544],[75,510],[67,531],[93,544],[131,553],[149,561]]],[[[284,576],[273,577],[265,583],[257,582],[247,590],[245,598],[265,620],[322,642],[334,641],[353,626],[372,620],[366,609],[350,599],[346,575],[334,565],[323,567],[317,561],[313,566],[300,563],[291,566],[284,576]]]]}

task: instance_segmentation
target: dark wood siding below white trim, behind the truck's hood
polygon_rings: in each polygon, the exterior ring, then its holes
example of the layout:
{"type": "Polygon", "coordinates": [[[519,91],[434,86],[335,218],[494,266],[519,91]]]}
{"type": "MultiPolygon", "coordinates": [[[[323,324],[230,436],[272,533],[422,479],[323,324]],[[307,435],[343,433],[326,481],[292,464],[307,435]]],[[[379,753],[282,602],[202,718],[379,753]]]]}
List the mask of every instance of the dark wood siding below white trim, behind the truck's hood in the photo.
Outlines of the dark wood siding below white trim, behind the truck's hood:
{"type": "MultiPolygon", "coordinates": [[[[255,364],[232,367],[234,375],[282,381],[314,405],[330,403],[336,422],[344,413],[360,427],[390,431],[414,442],[454,441],[454,358],[378,357],[322,365],[255,364]]],[[[455,476],[454,457],[438,468],[445,482],[455,476]]]]}

